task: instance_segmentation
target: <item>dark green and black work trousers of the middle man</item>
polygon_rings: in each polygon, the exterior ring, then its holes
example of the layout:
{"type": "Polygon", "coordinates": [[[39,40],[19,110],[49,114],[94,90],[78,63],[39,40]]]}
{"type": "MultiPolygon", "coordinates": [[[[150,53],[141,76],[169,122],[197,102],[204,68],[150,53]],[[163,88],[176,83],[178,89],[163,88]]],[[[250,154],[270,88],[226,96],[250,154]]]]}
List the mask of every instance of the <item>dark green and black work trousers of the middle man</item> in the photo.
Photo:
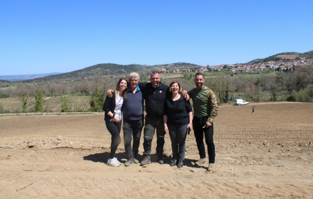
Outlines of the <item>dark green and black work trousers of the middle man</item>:
{"type": "Polygon", "coordinates": [[[155,130],[156,130],[156,153],[160,155],[163,153],[163,147],[165,143],[163,117],[151,118],[146,116],[145,128],[143,130],[144,157],[150,157],[152,138],[154,136],[155,130]]]}

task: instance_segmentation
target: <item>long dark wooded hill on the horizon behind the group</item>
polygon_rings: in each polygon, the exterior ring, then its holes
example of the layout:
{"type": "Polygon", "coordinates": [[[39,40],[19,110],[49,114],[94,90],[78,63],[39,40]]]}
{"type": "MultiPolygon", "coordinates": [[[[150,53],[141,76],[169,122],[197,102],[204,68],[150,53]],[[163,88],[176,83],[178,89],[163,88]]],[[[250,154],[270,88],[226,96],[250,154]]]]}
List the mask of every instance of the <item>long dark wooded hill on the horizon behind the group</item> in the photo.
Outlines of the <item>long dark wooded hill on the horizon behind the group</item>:
{"type": "Polygon", "coordinates": [[[131,72],[140,72],[140,71],[152,71],[159,68],[168,68],[168,67],[193,67],[198,66],[191,63],[172,63],[172,64],[162,64],[162,65],[139,65],[139,64],[129,64],[129,65],[119,65],[113,63],[103,63],[97,64],[94,66],[86,67],[80,70],[61,73],[58,75],[50,75],[46,77],[40,77],[32,80],[26,80],[24,82],[52,82],[60,80],[81,80],[84,78],[90,77],[102,77],[104,75],[127,75],[131,72]]]}

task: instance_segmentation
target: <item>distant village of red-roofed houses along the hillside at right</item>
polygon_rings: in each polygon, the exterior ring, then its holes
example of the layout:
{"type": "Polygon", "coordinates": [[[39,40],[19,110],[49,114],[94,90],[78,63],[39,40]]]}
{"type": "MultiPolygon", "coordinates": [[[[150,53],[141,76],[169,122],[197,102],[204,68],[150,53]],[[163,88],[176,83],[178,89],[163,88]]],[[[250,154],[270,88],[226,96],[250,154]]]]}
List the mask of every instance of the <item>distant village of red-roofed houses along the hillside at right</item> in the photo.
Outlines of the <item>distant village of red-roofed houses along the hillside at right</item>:
{"type": "Polygon", "coordinates": [[[166,68],[158,69],[159,72],[164,73],[180,73],[180,72],[204,72],[204,71],[222,71],[229,70],[234,73],[236,72],[253,72],[253,71],[262,71],[262,70],[277,70],[280,71],[291,70],[295,67],[306,66],[313,68],[313,59],[301,59],[294,61],[269,61],[262,62],[257,64],[222,64],[218,66],[181,66],[181,67],[172,67],[171,64],[167,65],[166,68]]]}

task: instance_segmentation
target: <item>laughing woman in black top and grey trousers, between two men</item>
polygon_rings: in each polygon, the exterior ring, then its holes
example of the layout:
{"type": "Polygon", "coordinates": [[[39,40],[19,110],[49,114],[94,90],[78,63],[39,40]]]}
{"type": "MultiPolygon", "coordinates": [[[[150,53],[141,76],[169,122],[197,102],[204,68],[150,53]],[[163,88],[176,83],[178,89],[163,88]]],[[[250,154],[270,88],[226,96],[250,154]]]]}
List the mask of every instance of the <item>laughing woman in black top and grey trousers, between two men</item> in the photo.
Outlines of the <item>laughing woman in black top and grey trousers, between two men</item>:
{"type": "Polygon", "coordinates": [[[177,80],[169,85],[171,97],[164,103],[164,131],[172,141],[173,160],[171,166],[184,165],[187,133],[192,129],[192,107],[182,96],[182,87],[177,80]]]}

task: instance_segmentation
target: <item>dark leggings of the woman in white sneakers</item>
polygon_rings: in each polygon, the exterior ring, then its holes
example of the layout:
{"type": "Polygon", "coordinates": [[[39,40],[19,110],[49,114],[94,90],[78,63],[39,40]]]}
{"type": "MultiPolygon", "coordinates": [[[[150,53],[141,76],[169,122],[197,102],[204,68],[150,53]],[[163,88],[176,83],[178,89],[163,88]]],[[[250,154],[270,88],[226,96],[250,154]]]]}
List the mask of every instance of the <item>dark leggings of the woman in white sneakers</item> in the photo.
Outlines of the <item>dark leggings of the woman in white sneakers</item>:
{"type": "Polygon", "coordinates": [[[110,158],[115,157],[115,152],[118,147],[118,145],[121,143],[121,137],[120,137],[120,132],[121,132],[121,122],[116,123],[116,122],[106,122],[105,121],[105,126],[108,129],[108,131],[111,134],[111,151],[110,151],[110,158]]]}

